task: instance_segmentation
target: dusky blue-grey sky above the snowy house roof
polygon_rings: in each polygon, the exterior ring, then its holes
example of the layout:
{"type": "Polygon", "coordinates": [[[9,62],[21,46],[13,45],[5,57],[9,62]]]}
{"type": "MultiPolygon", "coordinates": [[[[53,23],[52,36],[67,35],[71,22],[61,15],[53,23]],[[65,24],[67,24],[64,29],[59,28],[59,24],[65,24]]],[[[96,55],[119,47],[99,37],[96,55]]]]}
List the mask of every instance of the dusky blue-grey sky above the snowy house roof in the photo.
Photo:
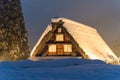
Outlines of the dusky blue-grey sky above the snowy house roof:
{"type": "Polygon", "coordinates": [[[51,18],[65,17],[98,30],[111,45],[120,39],[120,0],[21,0],[30,47],[51,18]]]}

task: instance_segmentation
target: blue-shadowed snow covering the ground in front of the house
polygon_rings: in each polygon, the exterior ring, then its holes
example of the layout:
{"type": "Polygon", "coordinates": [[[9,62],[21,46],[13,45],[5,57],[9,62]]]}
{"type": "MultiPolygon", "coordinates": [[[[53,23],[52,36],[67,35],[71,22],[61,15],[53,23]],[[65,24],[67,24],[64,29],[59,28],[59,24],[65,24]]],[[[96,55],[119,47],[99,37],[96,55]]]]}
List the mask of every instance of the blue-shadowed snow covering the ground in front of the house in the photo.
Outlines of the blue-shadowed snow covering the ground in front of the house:
{"type": "Polygon", "coordinates": [[[0,80],[120,80],[120,66],[78,58],[1,62],[0,80]]]}

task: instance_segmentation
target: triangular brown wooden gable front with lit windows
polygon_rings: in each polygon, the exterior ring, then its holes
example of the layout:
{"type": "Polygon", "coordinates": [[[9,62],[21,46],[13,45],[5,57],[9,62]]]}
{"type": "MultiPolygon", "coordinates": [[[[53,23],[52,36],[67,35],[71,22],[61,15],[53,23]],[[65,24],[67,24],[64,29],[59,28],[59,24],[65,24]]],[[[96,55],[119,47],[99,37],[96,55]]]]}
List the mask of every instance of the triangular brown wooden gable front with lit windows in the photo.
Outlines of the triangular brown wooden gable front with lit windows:
{"type": "MultiPolygon", "coordinates": [[[[63,27],[63,22],[53,22],[52,31],[46,35],[46,42],[35,56],[81,56],[77,44],[63,27]],[[47,38],[48,36],[48,38],[47,38]]],[[[44,40],[44,39],[43,39],[44,40]]]]}

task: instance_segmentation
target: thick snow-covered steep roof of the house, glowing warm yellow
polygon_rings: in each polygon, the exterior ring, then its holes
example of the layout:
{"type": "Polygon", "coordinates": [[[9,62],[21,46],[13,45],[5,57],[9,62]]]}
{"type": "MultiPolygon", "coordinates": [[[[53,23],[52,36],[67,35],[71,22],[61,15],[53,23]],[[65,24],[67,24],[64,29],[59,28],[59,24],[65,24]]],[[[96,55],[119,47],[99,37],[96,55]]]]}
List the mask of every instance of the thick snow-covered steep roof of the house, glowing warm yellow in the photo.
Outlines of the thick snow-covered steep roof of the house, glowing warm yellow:
{"type": "MultiPolygon", "coordinates": [[[[64,22],[63,27],[74,38],[79,47],[83,49],[90,59],[100,59],[108,62],[118,60],[116,55],[98,34],[96,29],[66,18],[52,19],[52,22],[58,22],[59,20],[64,22]]],[[[41,40],[51,30],[52,26],[49,25],[33,48],[31,57],[35,54],[35,50],[41,40]]]]}

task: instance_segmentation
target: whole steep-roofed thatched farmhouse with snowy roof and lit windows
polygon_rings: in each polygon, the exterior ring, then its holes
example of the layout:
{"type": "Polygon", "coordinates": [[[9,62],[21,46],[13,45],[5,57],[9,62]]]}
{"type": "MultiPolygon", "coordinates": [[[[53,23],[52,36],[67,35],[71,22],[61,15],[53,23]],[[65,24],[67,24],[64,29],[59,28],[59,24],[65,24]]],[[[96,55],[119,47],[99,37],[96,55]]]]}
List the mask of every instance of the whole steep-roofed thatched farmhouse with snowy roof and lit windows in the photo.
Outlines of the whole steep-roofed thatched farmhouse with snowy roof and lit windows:
{"type": "Polygon", "coordinates": [[[107,63],[118,61],[96,29],[66,18],[52,19],[33,48],[30,59],[43,57],[81,57],[107,63]]]}

